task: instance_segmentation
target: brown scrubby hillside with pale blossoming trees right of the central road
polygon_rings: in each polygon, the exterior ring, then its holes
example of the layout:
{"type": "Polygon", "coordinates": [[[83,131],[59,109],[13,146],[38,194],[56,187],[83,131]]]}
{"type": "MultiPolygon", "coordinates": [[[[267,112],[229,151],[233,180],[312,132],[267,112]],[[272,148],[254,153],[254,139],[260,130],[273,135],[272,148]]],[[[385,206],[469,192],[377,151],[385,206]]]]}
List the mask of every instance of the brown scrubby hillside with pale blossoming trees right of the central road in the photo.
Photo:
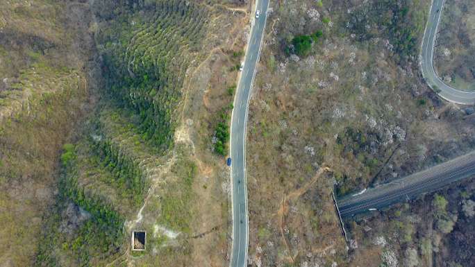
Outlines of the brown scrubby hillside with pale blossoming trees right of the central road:
{"type": "MultiPolygon", "coordinates": [[[[392,260],[403,263],[408,248],[419,255],[415,232],[407,243],[397,232],[389,246],[363,240],[373,227],[365,220],[345,244],[331,191],[361,191],[474,148],[474,117],[420,78],[430,1],[271,5],[247,127],[250,259],[257,266],[396,266],[392,260]],[[299,53],[296,44],[308,39],[301,36],[317,31],[317,42],[299,53]]],[[[391,226],[378,223],[382,231],[391,226]]]]}

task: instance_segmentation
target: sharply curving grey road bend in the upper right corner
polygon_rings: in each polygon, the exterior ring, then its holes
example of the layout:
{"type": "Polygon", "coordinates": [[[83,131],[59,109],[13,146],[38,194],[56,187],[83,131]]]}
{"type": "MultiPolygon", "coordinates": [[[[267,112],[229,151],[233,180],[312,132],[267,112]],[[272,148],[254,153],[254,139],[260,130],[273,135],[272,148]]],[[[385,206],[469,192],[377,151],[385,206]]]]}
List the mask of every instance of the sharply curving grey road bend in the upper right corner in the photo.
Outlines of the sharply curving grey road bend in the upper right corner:
{"type": "Polygon", "coordinates": [[[426,31],[424,32],[424,39],[422,40],[422,76],[426,79],[426,83],[445,100],[462,105],[472,105],[475,103],[475,92],[450,87],[442,82],[435,73],[433,65],[434,46],[443,6],[444,0],[433,0],[426,31]]]}

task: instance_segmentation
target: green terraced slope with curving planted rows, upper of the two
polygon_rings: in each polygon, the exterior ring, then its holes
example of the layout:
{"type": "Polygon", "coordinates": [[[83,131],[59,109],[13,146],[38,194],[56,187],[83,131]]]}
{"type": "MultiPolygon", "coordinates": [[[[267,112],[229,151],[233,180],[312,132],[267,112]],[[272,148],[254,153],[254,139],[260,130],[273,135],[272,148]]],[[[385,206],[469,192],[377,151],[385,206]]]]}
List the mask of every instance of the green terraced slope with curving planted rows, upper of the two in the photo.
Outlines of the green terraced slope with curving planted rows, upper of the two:
{"type": "Polygon", "coordinates": [[[98,42],[108,93],[139,115],[144,139],[166,149],[185,71],[206,35],[208,10],[190,1],[139,6],[124,16],[127,23],[107,23],[98,42]]]}

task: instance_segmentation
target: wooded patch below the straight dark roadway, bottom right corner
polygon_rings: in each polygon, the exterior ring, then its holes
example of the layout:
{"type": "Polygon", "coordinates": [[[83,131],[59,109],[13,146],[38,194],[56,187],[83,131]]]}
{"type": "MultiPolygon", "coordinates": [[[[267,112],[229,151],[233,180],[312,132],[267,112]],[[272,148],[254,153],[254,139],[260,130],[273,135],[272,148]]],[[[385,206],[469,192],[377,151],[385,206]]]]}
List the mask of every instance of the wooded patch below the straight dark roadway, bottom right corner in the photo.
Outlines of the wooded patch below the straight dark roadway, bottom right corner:
{"type": "Polygon", "coordinates": [[[474,242],[474,180],[467,180],[366,218],[347,221],[353,266],[377,262],[399,266],[471,266],[474,242]],[[375,253],[376,252],[376,253],[375,253]]]}

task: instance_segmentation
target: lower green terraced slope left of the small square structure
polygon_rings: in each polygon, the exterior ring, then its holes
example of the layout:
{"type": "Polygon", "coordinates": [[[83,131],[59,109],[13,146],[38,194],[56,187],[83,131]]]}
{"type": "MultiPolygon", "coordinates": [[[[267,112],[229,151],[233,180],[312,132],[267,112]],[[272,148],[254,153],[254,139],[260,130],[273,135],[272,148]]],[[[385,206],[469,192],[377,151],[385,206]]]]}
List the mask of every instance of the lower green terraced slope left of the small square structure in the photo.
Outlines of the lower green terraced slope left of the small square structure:
{"type": "Polygon", "coordinates": [[[76,144],[64,146],[60,194],[37,266],[102,266],[128,249],[126,219],[143,204],[149,166],[159,162],[118,114],[104,110],[76,144]]]}

